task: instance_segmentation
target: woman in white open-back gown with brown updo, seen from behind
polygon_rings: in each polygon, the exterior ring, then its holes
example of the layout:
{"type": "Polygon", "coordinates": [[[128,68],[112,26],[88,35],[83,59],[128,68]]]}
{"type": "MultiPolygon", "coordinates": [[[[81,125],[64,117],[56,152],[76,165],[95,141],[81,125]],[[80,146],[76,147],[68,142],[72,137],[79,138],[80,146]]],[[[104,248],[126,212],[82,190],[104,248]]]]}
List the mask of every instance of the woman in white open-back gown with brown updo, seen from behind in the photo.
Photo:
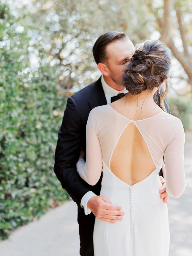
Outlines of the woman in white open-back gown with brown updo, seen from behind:
{"type": "Polygon", "coordinates": [[[154,100],[166,84],[171,64],[168,48],[146,40],[136,46],[122,78],[128,93],[111,104],[94,108],[86,127],[86,163],[79,175],[95,185],[103,171],[102,196],[121,205],[122,221],[96,219],[95,256],[168,256],[167,204],[160,199],[159,171],[164,156],[169,196],[185,189],[184,130],[181,121],[154,100]]]}

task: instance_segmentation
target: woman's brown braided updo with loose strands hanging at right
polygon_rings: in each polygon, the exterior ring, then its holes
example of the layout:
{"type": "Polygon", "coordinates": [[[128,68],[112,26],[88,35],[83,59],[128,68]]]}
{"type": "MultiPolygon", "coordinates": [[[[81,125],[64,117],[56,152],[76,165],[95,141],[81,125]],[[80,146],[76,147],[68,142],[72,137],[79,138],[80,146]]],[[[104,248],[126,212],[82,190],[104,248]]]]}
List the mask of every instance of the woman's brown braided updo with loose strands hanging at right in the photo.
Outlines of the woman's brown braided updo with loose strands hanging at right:
{"type": "MultiPolygon", "coordinates": [[[[169,76],[171,56],[168,47],[158,40],[146,40],[137,44],[131,61],[128,62],[124,75],[123,84],[128,92],[138,95],[147,89],[153,90],[159,87],[169,76]]],[[[168,83],[165,82],[164,93],[161,88],[160,107],[166,111],[163,99],[168,92],[168,83]]],[[[154,99],[157,103],[158,100],[154,99]]]]}

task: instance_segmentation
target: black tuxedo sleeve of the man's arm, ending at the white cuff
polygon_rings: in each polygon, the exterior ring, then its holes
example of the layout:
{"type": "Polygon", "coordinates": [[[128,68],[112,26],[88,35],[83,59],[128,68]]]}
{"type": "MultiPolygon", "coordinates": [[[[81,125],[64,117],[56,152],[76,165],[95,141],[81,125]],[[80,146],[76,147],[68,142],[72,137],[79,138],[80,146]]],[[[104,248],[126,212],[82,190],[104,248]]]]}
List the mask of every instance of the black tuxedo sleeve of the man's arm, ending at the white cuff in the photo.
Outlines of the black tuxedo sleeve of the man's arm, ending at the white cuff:
{"type": "Polygon", "coordinates": [[[63,121],[58,133],[54,172],[72,199],[80,207],[82,197],[90,191],[89,185],[76,171],[82,146],[82,126],[75,101],[68,98],[63,121]]]}

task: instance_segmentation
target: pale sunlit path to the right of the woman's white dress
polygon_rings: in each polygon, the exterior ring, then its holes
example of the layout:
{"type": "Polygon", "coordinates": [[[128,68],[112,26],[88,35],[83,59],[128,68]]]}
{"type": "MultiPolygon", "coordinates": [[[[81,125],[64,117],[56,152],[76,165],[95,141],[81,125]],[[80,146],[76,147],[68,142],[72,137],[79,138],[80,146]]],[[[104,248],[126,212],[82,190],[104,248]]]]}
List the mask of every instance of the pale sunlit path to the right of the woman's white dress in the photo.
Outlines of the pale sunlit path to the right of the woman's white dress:
{"type": "Polygon", "coordinates": [[[192,133],[186,132],[185,143],[186,189],[180,198],[168,203],[170,223],[169,256],[192,255],[192,133]]]}

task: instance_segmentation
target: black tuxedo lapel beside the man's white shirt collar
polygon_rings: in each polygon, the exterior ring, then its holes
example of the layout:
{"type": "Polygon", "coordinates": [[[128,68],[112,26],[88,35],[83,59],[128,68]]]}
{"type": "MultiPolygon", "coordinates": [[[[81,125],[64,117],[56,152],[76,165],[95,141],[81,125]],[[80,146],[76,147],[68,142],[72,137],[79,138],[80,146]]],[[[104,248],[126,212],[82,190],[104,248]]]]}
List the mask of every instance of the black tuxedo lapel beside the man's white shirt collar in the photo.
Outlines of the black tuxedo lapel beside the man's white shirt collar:
{"type": "Polygon", "coordinates": [[[88,104],[90,110],[98,106],[103,106],[107,104],[107,100],[105,98],[103,86],[101,83],[101,77],[95,82],[93,86],[91,100],[88,100],[88,104]]]}

